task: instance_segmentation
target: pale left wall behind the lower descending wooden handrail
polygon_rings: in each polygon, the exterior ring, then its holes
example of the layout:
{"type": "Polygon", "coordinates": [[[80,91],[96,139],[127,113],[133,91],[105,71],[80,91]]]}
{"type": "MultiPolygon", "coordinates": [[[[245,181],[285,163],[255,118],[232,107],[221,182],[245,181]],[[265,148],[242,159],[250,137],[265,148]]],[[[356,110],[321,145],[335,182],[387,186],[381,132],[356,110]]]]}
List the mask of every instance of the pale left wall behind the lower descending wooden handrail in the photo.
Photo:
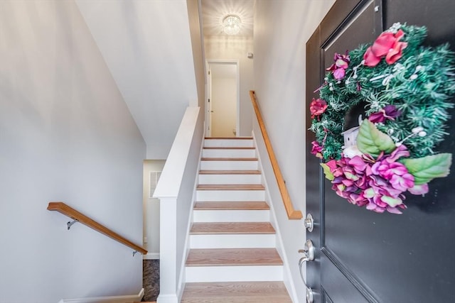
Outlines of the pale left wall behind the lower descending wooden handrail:
{"type": "Polygon", "coordinates": [[[0,1],[0,302],[138,294],[146,145],[74,1],[0,1]]]}

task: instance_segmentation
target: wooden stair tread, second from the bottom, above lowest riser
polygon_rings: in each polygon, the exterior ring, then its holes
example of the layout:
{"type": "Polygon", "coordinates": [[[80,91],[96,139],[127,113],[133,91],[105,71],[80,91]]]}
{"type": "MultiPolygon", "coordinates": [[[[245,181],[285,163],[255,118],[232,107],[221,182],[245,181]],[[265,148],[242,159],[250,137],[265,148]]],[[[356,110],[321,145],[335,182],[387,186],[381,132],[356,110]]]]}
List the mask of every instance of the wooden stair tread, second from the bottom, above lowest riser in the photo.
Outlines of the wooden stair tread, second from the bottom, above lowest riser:
{"type": "Polygon", "coordinates": [[[191,249],[186,266],[283,265],[275,248],[191,249]]]}

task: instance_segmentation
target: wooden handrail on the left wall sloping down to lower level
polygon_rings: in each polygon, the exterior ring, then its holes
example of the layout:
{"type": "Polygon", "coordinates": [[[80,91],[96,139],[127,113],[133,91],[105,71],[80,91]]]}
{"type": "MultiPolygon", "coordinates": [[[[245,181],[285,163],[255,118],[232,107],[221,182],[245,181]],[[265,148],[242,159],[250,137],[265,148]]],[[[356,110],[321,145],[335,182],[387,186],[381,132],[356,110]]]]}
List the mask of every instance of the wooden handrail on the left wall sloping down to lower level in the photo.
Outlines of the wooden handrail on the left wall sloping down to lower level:
{"type": "Polygon", "coordinates": [[[98,231],[103,235],[108,236],[109,238],[112,238],[125,246],[128,246],[129,248],[132,248],[138,253],[142,253],[144,255],[147,253],[147,250],[141,248],[141,246],[137,246],[131,241],[128,241],[126,238],[120,236],[118,233],[111,231],[109,228],[105,226],[102,226],[97,221],[90,219],[88,216],[85,216],[85,214],[81,214],[79,211],[73,209],[72,207],[66,205],[63,202],[49,202],[48,210],[58,211],[61,214],[64,214],[65,216],[69,216],[71,219],[77,220],[79,221],[79,223],[82,223],[85,226],[95,229],[95,231],[98,231]]]}

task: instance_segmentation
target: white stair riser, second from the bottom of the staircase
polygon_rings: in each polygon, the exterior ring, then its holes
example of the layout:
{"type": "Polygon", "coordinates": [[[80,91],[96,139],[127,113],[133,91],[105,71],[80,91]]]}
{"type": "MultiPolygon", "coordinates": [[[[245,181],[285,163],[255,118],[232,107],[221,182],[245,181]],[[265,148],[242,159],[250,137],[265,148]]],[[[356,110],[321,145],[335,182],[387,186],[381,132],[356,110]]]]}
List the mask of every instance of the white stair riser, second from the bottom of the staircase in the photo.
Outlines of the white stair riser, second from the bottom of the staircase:
{"type": "Polygon", "coordinates": [[[191,235],[191,248],[274,248],[274,234],[191,235]]]}

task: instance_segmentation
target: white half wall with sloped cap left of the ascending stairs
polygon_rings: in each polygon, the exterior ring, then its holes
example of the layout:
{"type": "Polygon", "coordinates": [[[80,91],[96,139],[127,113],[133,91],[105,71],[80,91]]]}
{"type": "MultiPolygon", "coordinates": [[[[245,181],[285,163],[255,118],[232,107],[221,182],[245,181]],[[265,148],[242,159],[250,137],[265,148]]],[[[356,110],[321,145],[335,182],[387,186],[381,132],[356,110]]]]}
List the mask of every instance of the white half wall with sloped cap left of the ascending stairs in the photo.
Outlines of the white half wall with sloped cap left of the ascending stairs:
{"type": "Polygon", "coordinates": [[[185,284],[184,260],[203,142],[203,114],[188,107],[166,159],[154,198],[160,200],[160,292],[158,303],[178,303],[185,284]]]}

